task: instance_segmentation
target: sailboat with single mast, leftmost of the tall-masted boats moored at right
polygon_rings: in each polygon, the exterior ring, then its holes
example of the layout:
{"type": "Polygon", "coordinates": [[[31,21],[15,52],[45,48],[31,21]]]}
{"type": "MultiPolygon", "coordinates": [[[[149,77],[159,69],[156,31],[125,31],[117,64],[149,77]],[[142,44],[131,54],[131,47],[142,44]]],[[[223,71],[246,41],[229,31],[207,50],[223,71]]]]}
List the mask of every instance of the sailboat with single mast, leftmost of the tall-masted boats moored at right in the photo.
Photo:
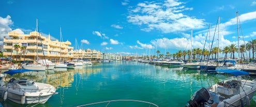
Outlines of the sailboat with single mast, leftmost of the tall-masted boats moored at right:
{"type": "Polygon", "coordinates": [[[184,64],[184,67],[188,69],[199,69],[200,65],[204,65],[204,64],[201,62],[192,62],[192,34],[193,34],[193,30],[191,29],[190,63],[184,64]]]}

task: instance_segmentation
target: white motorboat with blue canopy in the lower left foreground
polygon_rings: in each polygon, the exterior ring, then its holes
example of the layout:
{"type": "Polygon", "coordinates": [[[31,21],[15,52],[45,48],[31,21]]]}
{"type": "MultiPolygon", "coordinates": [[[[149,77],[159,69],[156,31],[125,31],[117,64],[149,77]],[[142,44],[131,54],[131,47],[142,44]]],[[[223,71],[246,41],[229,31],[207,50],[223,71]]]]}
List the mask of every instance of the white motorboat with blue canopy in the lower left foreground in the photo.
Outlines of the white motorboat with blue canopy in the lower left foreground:
{"type": "MultiPolygon", "coordinates": [[[[13,75],[23,72],[38,72],[27,69],[9,70],[5,74],[13,75]]],[[[55,93],[56,89],[50,84],[34,82],[27,78],[10,78],[4,82],[4,74],[0,76],[0,95],[4,101],[7,99],[20,104],[45,103],[55,93]]]]}

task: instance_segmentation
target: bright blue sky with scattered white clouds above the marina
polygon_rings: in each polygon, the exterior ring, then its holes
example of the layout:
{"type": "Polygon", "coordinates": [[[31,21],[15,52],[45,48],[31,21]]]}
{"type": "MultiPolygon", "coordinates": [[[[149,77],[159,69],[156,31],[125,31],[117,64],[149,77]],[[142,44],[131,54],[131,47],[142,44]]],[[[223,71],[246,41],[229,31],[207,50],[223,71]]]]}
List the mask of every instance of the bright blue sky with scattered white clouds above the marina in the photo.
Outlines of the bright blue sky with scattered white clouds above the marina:
{"type": "Polygon", "coordinates": [[[255,0],[1,0],[0,45],[12,30],[35,31],[36,19],[43,36],[62,34],[74,50],[122,55],[173,54],[191,44],[222,49],[256,39],[255,0]]]}

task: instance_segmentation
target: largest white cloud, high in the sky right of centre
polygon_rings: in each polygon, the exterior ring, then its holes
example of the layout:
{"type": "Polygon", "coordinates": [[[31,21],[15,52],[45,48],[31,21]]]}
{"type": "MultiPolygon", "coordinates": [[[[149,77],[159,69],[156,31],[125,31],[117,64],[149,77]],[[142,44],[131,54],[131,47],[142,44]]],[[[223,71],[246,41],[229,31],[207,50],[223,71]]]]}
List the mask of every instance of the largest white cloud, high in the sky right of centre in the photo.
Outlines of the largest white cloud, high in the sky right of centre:
{"type": "Polygon", "coordinates": [[[141,30],[150,32],[154,29],[162,33],[174,33],[188,29],[200,29],[205,26],[203,19],[183,14],[186,8],[182,2],[168,0],[164,3],[144,2],[129,11],[128,22],[140,25],[141,30]]]}

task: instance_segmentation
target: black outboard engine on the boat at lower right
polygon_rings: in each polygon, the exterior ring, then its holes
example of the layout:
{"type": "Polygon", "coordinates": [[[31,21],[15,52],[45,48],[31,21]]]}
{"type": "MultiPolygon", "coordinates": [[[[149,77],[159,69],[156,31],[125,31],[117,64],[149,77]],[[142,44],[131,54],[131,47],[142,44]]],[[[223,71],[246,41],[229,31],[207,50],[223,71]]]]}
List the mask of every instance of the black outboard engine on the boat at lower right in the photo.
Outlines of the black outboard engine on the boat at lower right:
{"type": "Polygon", "coordinates": [[[192,100],[188,101],[186,106],[197,107],[204,106],[204,103],[207,102],[210,98],[208,91],[205,88],[201,88],[195,93],[195,96],[192,100]]]}

